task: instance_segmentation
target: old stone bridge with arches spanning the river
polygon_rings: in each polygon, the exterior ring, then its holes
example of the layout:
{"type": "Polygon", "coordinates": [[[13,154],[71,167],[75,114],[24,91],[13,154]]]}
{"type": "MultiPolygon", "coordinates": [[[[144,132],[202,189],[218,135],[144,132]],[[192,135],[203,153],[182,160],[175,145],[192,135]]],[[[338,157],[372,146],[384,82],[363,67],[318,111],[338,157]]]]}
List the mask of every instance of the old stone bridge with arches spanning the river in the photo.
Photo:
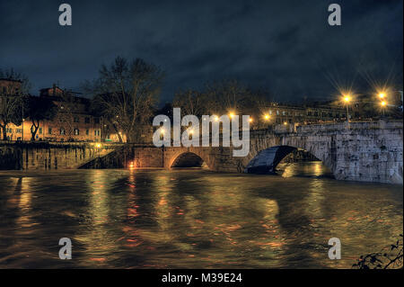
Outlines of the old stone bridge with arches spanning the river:
{"type": "Polygon", "coordinates": [[[276,126],[250,131],[250,153],[233,157],[233,147],[125,145],[82,168],[200,166],[218,172],[271,173],[295,149],[319,158],[338,180],[402,184],[402,121],[341,122],[276,126]]]}

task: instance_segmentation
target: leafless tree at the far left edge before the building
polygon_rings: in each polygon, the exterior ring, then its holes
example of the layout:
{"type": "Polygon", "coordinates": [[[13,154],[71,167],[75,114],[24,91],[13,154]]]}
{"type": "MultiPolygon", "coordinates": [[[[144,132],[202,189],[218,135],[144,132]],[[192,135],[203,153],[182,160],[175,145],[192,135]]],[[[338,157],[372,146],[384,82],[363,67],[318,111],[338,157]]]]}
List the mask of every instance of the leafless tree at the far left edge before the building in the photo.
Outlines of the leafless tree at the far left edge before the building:
{"type": "Polygon", "coordinates": [[[0,78],[7,80],[7,84],[0,86],[0,128],[3,139],[7,139],[7,126],[13,123],[22,124],[23,99],[29,91],[29,81],[26,76],[13,69],[3,71],[0,69],[0,78]]]}

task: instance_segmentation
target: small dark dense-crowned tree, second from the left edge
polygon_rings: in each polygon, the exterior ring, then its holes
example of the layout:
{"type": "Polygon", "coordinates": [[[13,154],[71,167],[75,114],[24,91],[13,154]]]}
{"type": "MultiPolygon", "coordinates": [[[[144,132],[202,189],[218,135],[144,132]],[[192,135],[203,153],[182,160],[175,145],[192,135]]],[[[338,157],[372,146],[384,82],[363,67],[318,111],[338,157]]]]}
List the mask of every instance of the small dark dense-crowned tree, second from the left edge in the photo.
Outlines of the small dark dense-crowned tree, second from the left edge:
{"type": "Polygon", "coordinates": [[[31,140],[35,140],[35,135],[40,129],[40,121],[51,121],[57,114],[57,106],[53,101],[44,97],[30,96],[28,98],[28,117],[31,125],[31,140]]]}

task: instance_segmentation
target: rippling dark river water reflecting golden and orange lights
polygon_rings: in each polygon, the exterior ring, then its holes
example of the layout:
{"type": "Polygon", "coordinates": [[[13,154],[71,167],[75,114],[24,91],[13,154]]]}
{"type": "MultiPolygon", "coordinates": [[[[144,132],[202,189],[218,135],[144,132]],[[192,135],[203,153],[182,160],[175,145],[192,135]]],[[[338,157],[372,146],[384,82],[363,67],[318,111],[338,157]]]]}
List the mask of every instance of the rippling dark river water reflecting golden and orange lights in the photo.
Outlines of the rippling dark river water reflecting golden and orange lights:
{"type": "Polygon", "coordinates": [[[281,169],[0,172],[0,268],[350,268],[403,232],[402,186],[281,169]]]}

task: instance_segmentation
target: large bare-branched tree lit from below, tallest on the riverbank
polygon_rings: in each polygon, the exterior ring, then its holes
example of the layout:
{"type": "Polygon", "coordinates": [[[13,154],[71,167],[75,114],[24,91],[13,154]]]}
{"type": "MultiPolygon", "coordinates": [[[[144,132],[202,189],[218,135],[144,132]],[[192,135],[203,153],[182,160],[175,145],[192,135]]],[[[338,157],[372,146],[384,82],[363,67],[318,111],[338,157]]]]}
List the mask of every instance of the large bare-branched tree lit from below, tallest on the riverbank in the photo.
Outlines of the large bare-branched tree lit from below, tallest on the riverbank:
{"type": "Polygon", "coordinates": [[[162,70],[141,58],[127,61],[115,58],[107,67],[101,66],[100,76],[84,83],[93,95],[93,110],[110,122],[115,130],[136,142],[145,126],[151,126],[154,106],[160,94],[162,70]]]}

